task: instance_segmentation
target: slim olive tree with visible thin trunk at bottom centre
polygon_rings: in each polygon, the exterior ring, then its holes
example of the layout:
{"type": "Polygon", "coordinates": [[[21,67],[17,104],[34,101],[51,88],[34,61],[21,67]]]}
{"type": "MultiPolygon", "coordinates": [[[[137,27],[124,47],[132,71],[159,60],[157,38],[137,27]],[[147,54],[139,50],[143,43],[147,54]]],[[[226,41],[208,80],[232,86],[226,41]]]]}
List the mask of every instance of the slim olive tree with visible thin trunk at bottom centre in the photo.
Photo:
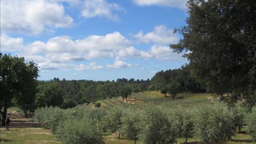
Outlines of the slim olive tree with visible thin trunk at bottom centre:
{"type": "Polygon", "coordinates": [[[121,133],[128,139],[134,140],[136,144],[140,133],[140,111],[128,109],[123,115],[121,133]]]}

